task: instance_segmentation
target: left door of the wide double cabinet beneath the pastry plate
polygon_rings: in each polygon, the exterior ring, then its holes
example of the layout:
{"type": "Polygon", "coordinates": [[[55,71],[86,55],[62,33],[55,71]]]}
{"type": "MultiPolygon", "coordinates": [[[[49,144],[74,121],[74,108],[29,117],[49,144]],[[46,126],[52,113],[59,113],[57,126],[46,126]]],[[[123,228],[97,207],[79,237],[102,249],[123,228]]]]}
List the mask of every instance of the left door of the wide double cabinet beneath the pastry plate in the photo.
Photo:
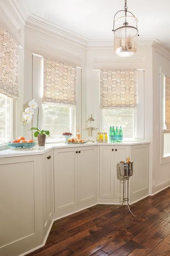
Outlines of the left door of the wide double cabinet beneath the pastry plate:
{"type": "Polygon", "coordinates": [[[77,148],[54,149],[55,212],[77,205],[77,148]]]}

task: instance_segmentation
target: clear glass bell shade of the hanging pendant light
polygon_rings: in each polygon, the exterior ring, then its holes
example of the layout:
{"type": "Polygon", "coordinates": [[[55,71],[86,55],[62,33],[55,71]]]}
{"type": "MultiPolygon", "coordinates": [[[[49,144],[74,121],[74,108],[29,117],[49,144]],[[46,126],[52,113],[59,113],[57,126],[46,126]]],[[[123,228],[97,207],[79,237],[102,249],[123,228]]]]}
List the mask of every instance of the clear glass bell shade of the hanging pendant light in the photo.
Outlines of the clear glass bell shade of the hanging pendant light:
{"type": "Polygon", "coordinates": [[[138,31],[134,27],[121,27],[114,32],[114,51],[119,57],[130,57],[137,50],[138,31]]]}

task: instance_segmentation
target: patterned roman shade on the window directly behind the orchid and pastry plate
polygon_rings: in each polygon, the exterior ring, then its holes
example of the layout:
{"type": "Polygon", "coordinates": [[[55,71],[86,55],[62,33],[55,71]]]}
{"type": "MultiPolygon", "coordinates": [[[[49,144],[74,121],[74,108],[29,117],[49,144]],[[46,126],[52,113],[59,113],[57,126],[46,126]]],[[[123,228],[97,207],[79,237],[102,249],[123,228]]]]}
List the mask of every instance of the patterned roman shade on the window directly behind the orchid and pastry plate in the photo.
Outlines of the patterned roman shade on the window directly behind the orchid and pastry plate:
{"type": "Polygon", "coordinates": [[[43,104],[76,106],[77,67],[43,57],[43,104]]]}

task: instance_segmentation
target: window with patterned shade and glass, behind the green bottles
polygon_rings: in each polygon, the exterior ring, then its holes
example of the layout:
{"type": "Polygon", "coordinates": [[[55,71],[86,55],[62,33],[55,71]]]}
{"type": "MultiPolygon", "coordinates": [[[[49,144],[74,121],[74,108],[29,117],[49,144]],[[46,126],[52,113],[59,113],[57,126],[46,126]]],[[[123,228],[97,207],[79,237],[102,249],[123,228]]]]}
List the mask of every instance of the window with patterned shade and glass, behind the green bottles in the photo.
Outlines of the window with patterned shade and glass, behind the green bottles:
{"type": "Polygon", "coordinates": [[[135,69],[100,70],[102,131],[122,126],[123,138],[134,139],[136,125],[137,72],[135,69]]]}

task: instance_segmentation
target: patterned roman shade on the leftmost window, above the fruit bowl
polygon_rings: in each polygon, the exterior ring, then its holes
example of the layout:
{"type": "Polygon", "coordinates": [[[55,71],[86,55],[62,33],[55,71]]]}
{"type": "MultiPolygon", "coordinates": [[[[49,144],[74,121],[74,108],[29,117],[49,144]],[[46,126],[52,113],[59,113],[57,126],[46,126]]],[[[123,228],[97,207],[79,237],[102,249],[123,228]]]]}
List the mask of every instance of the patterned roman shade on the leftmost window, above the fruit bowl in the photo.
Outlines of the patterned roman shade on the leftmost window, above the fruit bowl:
{"type": "Polygon", "coordinates": [[[18,92],[19,44],[0,22],[0,93],[19,98],[18,92]]]}

